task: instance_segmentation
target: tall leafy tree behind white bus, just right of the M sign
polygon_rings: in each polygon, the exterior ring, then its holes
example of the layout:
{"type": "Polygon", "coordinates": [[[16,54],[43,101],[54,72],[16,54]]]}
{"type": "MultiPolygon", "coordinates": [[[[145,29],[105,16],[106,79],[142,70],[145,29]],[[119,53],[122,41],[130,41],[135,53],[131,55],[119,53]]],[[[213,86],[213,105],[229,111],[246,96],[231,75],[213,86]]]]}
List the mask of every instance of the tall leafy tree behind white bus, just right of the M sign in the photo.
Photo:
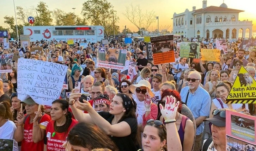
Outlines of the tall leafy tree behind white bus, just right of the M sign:
{"type": "Polygon", "coordinates": [[[48,10],[48,6],[45,2],[39,2],[36,7],[35,26],[50,26],[53,22],[51,17],[51,11],[48,10]]]}

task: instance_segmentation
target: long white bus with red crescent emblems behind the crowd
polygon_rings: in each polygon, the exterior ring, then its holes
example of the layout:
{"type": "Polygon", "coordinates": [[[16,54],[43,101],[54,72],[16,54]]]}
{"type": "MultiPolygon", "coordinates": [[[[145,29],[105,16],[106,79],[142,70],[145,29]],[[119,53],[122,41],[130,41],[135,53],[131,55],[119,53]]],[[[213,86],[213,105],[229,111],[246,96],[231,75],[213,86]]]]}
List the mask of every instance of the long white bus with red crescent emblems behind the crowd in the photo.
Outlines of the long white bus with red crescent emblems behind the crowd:
{"type": "Polygon", "coordinates": [[[96,43],[104,39],[103,26],[24,26],[24,34],[30,35],[30,42],[36,40],[57,40],[67,41],[87,40],[96,43]]]}

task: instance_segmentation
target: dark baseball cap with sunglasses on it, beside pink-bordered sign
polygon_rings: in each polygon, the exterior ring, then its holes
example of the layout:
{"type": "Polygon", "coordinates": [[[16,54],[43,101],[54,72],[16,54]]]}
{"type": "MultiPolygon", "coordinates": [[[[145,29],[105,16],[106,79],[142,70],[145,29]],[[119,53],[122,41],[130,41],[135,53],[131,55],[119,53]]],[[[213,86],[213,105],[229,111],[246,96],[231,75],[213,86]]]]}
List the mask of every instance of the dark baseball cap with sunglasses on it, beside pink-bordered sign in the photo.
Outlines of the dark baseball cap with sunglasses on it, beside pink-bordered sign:
{"type": "Polygon", "coordinates": [[[226,126],[226,111],[225,110],[215,109],[212,114],[213,114],[212,118],[204,119],[203,121],[209,121],[213,125],[219,126],[219,127],[226,126]]]}

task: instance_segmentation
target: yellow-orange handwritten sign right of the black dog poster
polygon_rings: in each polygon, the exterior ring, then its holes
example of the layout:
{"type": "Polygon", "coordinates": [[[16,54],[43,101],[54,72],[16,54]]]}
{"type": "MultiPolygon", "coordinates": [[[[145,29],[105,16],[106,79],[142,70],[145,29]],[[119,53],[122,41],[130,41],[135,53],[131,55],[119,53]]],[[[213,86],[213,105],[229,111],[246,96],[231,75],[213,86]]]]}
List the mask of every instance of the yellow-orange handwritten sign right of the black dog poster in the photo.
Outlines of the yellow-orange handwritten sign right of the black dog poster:
{"type": "Polygon", "coordinates": [[[219,49],[201,49],[202,61],[216,61],[220,62],[219,49]]]}

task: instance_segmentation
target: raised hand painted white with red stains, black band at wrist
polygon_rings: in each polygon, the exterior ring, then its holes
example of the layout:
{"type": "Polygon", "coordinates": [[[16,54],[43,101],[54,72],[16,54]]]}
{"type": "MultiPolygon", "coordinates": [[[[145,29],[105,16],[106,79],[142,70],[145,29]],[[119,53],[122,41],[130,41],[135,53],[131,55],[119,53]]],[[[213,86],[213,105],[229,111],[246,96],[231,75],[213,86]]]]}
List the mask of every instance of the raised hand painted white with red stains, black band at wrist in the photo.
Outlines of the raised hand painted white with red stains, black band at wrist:
{"type": "Polygon", "coordinates": [[[176,98],[173,96],[167,96],[165,107],[160,104],[160,111],[164,117],[165,122],[175,122],[176,112],[179,106],[179,101],[177,103],[176,98]]]}

